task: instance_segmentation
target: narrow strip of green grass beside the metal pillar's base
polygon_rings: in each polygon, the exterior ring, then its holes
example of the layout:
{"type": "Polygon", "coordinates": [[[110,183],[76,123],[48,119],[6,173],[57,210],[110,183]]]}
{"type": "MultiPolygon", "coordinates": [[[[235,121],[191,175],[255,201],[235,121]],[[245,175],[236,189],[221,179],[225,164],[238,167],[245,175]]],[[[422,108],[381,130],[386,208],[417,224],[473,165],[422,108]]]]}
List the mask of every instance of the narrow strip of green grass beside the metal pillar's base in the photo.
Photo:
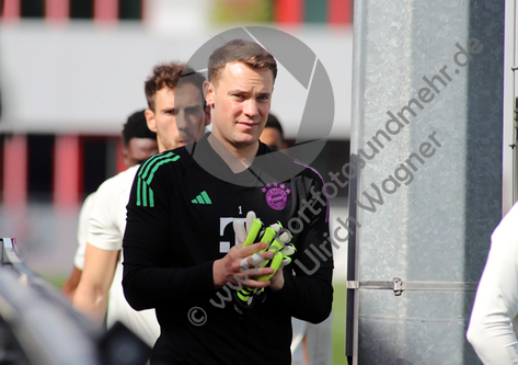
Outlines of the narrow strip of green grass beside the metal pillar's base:
{"type": "Polygon", "coordinates": [[[345,283],[334,283],[333,299],[333,365],[347,365],[345,357],[345,297],[347,294],[345,283]]]}

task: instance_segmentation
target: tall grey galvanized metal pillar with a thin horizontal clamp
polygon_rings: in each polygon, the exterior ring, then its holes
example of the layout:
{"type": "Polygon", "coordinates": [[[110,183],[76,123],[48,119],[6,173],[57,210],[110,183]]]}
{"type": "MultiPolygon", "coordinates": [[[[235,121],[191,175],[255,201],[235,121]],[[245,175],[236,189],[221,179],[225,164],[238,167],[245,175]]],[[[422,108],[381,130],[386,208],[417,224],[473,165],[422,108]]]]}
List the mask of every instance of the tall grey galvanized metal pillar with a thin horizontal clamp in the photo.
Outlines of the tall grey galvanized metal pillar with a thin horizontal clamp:
{"type": "Polygon", "coordinates": [[[502,217],[504,7],[355,1],[356,364],[480,364],[464,333],[502,217]]]}

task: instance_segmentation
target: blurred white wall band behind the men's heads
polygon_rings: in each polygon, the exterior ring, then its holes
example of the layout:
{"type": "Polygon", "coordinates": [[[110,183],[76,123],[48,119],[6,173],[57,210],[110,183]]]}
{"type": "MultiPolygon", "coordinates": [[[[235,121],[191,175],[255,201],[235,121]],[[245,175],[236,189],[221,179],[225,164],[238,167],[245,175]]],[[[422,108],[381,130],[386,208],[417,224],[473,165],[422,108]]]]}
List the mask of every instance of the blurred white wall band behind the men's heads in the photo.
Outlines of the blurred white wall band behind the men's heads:
{"type": "MultiPolygon", "coordinates": [[[[152,10],[148,10],[152,12],[152,10]]],[[[91,22],[50,26],[23,21],[0,26],[0,133],[80,133],[118,135],[127,115],[145,107],[143,81],[153,65],[186,61],[212,36],[214,27],[100,27],[91,22]]],[[[333,139],[349,138],[352,28],[284,28],[304,42],[322,61],[333,84],[333,139]]],[[[295,138],[306,90],[279,75],[272,112],[295,138]]]]}

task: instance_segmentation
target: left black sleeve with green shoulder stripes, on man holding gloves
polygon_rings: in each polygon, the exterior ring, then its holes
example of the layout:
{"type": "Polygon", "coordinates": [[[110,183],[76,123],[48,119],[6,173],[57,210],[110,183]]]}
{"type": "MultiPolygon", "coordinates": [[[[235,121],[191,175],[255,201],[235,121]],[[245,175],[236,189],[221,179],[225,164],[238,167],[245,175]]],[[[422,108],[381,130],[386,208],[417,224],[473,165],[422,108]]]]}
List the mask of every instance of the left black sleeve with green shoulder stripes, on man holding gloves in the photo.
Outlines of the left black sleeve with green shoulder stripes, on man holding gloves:
{"type": "Polygon", "coordinates": [[[123,241],[124,294],[136,310],[214,292],[214,261],[186,269],[171,260],[175,254],[171,225],[174,186],[163,167],[150,179],[145,172],[149,161],[134,180],[123,241]]]}

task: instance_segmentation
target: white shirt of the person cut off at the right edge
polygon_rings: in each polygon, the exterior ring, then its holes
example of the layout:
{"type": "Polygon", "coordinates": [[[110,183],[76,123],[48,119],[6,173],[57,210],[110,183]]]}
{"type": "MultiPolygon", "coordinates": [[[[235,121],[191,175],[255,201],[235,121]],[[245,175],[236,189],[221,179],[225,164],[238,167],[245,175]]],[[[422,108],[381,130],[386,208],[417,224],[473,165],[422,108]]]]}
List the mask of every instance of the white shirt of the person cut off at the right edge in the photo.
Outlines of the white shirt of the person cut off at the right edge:
{"type": "Polygon", "coordinates": [[[518,204],[491,236],[468,341],[484,364],[518,364],[518,204]]]}

